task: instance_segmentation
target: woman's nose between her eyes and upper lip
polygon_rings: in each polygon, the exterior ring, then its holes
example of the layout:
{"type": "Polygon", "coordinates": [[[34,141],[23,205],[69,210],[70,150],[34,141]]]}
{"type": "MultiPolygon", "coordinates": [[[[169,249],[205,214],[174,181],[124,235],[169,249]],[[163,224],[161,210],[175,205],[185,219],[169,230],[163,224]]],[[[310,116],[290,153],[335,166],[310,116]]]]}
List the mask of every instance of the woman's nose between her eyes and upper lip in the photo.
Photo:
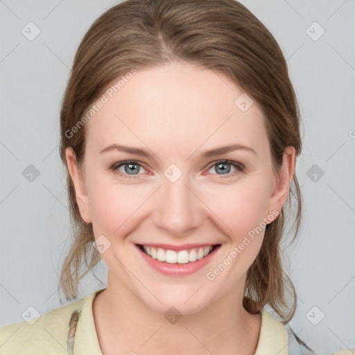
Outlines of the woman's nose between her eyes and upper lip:
{"type": "Polygon", "coordinates": [[[155,226],[167,234],[186,236],[202,223],[203,204],[184,174],[175,182],[163,177],[153,203],[155,226]]]}

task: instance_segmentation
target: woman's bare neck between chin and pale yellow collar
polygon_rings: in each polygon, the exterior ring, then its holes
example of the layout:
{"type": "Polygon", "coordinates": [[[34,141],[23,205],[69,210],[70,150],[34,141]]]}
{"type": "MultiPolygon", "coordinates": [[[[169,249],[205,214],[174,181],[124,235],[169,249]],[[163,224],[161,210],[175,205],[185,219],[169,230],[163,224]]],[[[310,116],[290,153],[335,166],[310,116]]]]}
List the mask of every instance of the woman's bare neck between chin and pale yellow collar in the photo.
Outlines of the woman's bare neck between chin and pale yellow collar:
{"type": "Polygon", "coordinates": [[[103,355],[116,355],[117,349],[119,354],[247,355],[257,349],[261,315],[243,308],[243,287],[196,313],[166,319],[111,279],[109,271],[107,288],[93,302],[103,355]]]}

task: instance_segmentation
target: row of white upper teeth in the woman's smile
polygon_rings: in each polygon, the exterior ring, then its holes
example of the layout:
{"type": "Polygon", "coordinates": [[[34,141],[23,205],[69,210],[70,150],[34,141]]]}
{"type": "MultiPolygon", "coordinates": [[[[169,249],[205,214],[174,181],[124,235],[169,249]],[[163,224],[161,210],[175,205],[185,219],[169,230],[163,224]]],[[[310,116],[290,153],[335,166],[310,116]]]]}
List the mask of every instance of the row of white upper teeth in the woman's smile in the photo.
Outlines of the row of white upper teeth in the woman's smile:
{"type": "Polygon", "coordinates": [[[166,263],[189,263],[206,257],[213,247],[210,245],[204,248],[180,250],[180,252],[148,247],[146,245],[143,245],[143,248],[150,257],[159,261],[166,261],[166,263]]]}

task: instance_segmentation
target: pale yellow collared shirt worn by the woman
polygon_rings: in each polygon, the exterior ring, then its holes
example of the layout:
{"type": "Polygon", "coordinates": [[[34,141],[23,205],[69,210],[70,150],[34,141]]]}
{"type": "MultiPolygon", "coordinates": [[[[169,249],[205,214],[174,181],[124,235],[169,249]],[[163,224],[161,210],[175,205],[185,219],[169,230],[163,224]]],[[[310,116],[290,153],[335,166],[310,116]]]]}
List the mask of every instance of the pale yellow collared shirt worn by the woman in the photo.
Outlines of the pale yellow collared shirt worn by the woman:
{"type": "MultiPolygon", "coordinates": [[[[69,320],[73,311],[81,311],[73,345],[73,355],[103,355],[94,323],[92,301],[97,293],[65,304],[31,322],[19,322],[0,328],[0,355],[68,355],[69,320]]],[[[261,311],[261,329],[255,355],[287,355],[288,335],[284,324],[268,311],[261,311]]]]}

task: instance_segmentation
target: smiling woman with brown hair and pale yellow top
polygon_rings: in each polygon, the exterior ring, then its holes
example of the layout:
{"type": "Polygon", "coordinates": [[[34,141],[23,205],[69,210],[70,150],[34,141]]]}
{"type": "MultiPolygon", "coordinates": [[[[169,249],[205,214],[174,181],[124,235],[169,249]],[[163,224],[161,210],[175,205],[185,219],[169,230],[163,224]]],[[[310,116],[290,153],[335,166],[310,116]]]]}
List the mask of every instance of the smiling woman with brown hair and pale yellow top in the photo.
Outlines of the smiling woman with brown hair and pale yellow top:
{"type": "Polygon", "coordinates": [[[266,27],[234,0],[123,1],[83,38],[60,126],[60,286],[75,299],[102,258],[107,288],[3,327],[0,354],[288,354],[280,242],[291,197],[300,226],[302,142],[266,27]]]}

